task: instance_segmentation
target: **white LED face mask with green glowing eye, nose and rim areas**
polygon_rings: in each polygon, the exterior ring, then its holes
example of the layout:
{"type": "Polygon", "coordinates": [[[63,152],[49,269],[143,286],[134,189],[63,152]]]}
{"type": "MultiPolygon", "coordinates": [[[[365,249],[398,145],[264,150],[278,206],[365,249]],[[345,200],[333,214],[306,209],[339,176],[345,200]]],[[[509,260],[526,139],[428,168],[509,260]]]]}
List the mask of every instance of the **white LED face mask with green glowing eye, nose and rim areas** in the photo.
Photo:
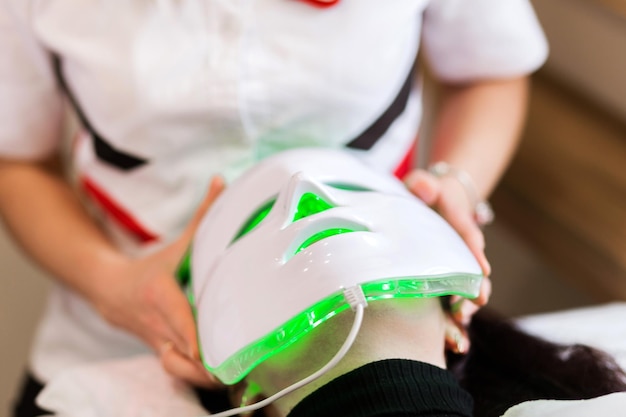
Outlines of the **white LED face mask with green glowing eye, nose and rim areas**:
{"type": "Polygon", "coordinates": [[[393,177],[339,151],[288,151],[219,197],[196,234],[191,299],[205,366],[224,383],[368,301],[476,297],[482,273],[459,235],[393,177]]]}

